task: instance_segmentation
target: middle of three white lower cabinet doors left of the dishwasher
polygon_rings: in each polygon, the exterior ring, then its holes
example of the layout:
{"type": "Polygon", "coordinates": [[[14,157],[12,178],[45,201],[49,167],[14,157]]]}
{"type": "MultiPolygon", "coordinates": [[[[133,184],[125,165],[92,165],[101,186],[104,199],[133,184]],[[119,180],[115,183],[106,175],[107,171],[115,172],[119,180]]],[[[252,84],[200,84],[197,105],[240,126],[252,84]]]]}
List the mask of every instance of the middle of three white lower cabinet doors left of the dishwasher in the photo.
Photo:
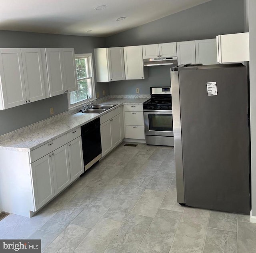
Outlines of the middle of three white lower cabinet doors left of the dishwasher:
{"type": "Polygon", "coordinates": [[[54,150],[51,154],[54,189],[55,194],[58,194],[71,183],[67,144],[54,150]]]}

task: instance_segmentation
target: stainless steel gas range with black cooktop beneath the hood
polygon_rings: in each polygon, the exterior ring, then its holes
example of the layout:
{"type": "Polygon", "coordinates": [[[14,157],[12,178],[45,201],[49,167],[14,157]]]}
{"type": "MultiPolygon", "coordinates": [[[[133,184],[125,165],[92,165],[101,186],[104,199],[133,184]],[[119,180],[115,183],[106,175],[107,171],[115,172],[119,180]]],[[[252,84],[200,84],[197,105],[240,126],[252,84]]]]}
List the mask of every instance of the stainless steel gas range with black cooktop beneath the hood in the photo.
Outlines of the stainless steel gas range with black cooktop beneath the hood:
{"type": "Polygon", "coordinates": [[[143,103],[146,144],[174,146],[170,87],[150,87],[143,103]]]}

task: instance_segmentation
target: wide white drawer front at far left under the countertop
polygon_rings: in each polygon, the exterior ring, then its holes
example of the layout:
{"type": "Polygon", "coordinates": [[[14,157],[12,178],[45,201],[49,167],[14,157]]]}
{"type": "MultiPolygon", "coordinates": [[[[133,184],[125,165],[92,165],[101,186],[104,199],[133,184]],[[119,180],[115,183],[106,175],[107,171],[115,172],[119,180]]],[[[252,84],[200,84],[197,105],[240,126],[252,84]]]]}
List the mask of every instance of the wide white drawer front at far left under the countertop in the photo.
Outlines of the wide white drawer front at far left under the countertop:
{"type": "Polygon", "coordinates": [[[34,149],[30,152],[30,163],[38,160],[39,158],[47,155],[48,153],[54,151],[55,149],[65,145],[67,143],[67,135],[62,135],[57,139],[49,141],[48,143],[34,149]]]}

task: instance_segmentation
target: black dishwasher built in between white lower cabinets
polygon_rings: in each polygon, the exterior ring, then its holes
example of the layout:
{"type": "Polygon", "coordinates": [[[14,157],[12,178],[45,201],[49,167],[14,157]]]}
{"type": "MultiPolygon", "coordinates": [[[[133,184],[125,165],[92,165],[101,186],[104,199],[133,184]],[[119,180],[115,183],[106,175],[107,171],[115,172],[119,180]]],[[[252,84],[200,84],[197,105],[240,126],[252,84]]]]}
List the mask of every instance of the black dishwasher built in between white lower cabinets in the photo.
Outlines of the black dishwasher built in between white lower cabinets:
{"type": "Polygon", "coordinates": [[[81,126],[84,170],[89,169],[101,157],[100,118],[81,126]]]}

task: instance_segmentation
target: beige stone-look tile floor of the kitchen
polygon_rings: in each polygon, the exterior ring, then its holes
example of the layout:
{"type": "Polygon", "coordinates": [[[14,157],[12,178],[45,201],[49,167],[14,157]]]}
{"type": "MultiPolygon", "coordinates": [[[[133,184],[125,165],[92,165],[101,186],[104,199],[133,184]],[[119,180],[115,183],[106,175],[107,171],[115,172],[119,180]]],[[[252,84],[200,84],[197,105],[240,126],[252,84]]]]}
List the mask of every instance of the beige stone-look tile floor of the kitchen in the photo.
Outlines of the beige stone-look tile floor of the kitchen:
{"type": "Polygon", "coordinates": [[[10,214],[1,239],[44,253],[255,253],[248,215],[176,202],[173,147],[119,145],[34,217],[10,214]]]}

